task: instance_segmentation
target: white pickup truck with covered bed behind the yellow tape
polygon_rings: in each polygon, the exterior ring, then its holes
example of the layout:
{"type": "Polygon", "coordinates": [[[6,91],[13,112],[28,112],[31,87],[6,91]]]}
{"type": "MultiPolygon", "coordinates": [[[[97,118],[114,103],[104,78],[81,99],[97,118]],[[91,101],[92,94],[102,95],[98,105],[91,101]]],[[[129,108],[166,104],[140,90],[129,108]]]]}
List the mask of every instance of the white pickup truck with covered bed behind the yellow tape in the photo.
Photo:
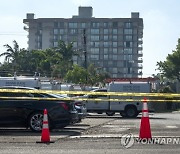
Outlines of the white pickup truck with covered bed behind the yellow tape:
{"type": "MultiPolygon", "coordinates": [[[[150,93],[151,84],[147,82],[111,82],[107,89],[96,89],[95,92],[135,92],[135,93],[150,93]]],[[[106,95],[87,95],[88,98],[100,99],[133,99],[132,96],[106,96],[106,95]]],[[[136,99],[143,99],[139,97],[136,99]]],[[[149,111],[153,111],[152,104],[148,103],[149,111]]],[[[119,112],[122,117],[133,118],[137,117],[142,111],[142,102],[123,102],[123,101],[90,101],[87,100],[87,111],[103,113],[112,116],[119,112]]]]}

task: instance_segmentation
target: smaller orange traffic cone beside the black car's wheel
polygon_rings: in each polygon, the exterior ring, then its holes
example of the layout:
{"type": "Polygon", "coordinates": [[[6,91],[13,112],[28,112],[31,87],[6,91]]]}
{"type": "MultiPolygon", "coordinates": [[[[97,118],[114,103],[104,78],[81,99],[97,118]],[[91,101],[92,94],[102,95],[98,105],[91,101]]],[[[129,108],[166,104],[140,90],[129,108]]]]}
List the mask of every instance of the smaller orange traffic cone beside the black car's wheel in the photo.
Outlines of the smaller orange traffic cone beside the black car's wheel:
{"type": "Polygon", "coordinates": [[[41,133],[41,141],[37,143],[53,143],[50,141],[50,133],[49,133],[49,124],[48,124],[48,115],[47,110],[44,109],[44,117],[43,117],[43,127],[41,133]]]}

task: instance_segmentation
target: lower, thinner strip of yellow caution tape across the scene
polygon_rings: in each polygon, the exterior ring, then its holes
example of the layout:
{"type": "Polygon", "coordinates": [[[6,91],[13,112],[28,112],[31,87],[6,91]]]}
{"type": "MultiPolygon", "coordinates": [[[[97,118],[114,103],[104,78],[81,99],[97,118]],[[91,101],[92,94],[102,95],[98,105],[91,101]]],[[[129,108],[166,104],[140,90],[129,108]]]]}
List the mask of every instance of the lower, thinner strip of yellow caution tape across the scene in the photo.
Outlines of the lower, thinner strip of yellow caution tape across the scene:
{"type": "MultiPolygon", "coordinates": [[[[143,102],[144,99],[93,99],[93,98],[73,98],[73,97],[63,97],[63,98],[44,98],[44,97],[0,97],[0,100],[7,99],[7,100],[75,100],[75,101],[95,101],[95,102],[143,102]]],[[[146,99],[147,102],[177,102],[179,103],[180,100],[165,100],[165,99],[146,99]]]]}

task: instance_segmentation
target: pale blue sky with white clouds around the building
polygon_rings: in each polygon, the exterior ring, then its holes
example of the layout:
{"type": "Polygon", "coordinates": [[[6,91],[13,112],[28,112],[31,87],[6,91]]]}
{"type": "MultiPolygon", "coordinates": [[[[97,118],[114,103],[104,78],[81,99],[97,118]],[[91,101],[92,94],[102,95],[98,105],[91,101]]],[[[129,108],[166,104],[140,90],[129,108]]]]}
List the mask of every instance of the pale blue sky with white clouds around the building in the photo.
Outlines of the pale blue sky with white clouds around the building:
{"type": "MultiPolygon", "coordinates": [[[[130,18],[139,12],[143,18],[143,77],[157,74],[157,62],[165,61],[180,38],[180,0],[0,0],[0,54],[5,44],[28,47],[23,29],[27,13],[35,18],[71,18],[79,6],[92,6],[96,18],[130,18]]],[[[0,62],[4,57],[0,58],[0,62]]]]}

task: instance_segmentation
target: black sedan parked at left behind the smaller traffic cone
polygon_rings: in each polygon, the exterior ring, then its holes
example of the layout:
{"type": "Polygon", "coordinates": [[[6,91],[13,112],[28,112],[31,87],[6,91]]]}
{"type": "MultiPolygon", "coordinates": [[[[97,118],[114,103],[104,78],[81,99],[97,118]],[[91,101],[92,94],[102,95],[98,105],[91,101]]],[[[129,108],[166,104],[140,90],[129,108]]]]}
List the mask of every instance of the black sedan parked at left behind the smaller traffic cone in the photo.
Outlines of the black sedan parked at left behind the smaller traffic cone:
{"type": "MultiPolygon", "coordinates": [[[[33,88],[27,87],[1,87],[1,89],[33,90],[33,88]]],[[[14,99],[13,97],[45,97],[45,95],[41,93],[1,91],[0,127],[30,127],[32,131],[41,131],[44,109],[48,111],[50,129],[63,128],[78,120],[78,112],[73,101],[14,99]],[[8,99],[4,97],[8,97],[8,99]]]]}

